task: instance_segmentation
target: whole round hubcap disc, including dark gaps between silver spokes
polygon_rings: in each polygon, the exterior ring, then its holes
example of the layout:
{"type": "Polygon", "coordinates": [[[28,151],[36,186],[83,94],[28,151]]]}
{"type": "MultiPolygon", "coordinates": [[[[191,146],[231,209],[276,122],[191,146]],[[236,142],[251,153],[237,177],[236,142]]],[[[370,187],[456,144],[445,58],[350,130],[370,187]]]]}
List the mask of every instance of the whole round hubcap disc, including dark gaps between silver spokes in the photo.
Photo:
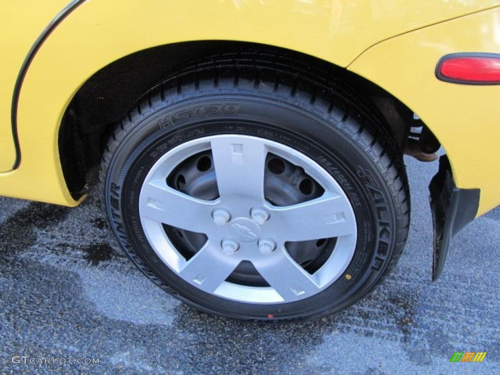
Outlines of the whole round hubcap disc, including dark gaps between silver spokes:
{"type": "Polygon", "coordinates": [[[248,135],[183,143],[141,186],[142,229],[179,277],[223,298],[310,297],[349,264],[356,221],[334,178],[306,155],[248,135]]]}

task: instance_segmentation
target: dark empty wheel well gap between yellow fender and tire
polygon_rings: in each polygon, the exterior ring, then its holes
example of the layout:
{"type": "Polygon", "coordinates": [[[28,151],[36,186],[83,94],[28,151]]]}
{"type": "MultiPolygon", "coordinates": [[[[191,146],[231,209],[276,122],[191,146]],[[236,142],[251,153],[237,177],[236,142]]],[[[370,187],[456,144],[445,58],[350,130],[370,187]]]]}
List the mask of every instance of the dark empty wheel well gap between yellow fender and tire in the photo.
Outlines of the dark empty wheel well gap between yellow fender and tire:
{"type": "Polygon", "coordinates": [[[144,49],[124,56],[95,72],[76,92],[59,128],[58,147],[62,171],[73,198],[84,192],[88,170],[99,163],[113,127],[138,98],[172,70],[187,61],[215,53],[238,50],[276,50],[331,74],[363,93],[383,115],[402,150],[413,112],[374,83],[319,58],[284,48],[236,41],[190,41],[144,49]]]}

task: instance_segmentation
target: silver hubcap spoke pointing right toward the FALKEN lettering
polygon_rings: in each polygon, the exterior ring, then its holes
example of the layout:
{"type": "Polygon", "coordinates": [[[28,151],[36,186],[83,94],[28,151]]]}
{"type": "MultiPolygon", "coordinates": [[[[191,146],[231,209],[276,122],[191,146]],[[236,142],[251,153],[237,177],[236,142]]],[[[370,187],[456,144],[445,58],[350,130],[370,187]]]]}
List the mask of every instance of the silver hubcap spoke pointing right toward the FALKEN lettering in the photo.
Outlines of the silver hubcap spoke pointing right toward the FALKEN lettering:
{"type": "Polygon", "coordinates": [[[354,215],[346,199],[332,192],[303,203],[270,208],[287,241],[338,237],[355,232],[354,215]]]}

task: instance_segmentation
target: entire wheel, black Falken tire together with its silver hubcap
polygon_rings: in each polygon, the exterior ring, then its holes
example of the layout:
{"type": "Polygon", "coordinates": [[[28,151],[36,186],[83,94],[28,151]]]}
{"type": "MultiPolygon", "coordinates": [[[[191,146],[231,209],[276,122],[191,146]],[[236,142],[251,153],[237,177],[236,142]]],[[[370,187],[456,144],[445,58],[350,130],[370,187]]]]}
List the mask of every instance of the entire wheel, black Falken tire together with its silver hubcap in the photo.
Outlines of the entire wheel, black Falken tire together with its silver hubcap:
{"type": "Polygon", "coordinates": [[[155,284],[204,311],[281,320],[338,311],[388,272],[409,226],[402,156],[362,94],[324,76],[285,56],[214,56],[115,128],[102,199],[155,284]]]}

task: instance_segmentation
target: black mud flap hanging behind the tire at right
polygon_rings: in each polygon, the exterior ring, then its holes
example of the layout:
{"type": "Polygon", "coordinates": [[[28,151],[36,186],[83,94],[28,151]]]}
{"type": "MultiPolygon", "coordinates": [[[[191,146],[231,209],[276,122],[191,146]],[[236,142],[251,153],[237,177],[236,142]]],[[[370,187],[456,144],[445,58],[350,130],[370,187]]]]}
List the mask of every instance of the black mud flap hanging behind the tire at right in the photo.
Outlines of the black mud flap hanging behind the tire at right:
{"type": "Polygon", "coordinates": [[[479,207],[479,189],[455,186],[448,157],[439,158],[439,170],[429,184],[430,209],[434,227],[432,280],[441,274],[451,237],[472,221],[479,207]]]}

